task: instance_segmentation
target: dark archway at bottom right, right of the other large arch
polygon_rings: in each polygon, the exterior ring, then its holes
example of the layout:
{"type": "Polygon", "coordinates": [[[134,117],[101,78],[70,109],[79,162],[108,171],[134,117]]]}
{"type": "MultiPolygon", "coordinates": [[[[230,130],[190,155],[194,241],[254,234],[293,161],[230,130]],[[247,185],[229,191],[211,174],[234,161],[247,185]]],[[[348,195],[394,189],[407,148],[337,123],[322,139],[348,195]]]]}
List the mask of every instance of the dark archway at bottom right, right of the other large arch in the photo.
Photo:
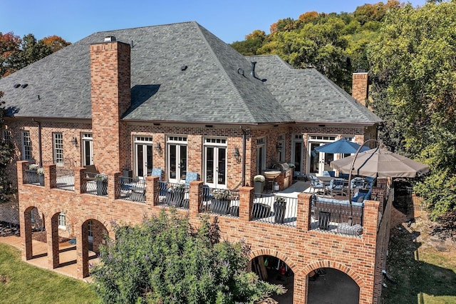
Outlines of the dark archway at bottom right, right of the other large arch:
{"type": "Polygon", "coordinates": [[[359,303],[360,288],[350,275],[335,268],[317,268],[309,275],[307,303],[359,303]]]}

